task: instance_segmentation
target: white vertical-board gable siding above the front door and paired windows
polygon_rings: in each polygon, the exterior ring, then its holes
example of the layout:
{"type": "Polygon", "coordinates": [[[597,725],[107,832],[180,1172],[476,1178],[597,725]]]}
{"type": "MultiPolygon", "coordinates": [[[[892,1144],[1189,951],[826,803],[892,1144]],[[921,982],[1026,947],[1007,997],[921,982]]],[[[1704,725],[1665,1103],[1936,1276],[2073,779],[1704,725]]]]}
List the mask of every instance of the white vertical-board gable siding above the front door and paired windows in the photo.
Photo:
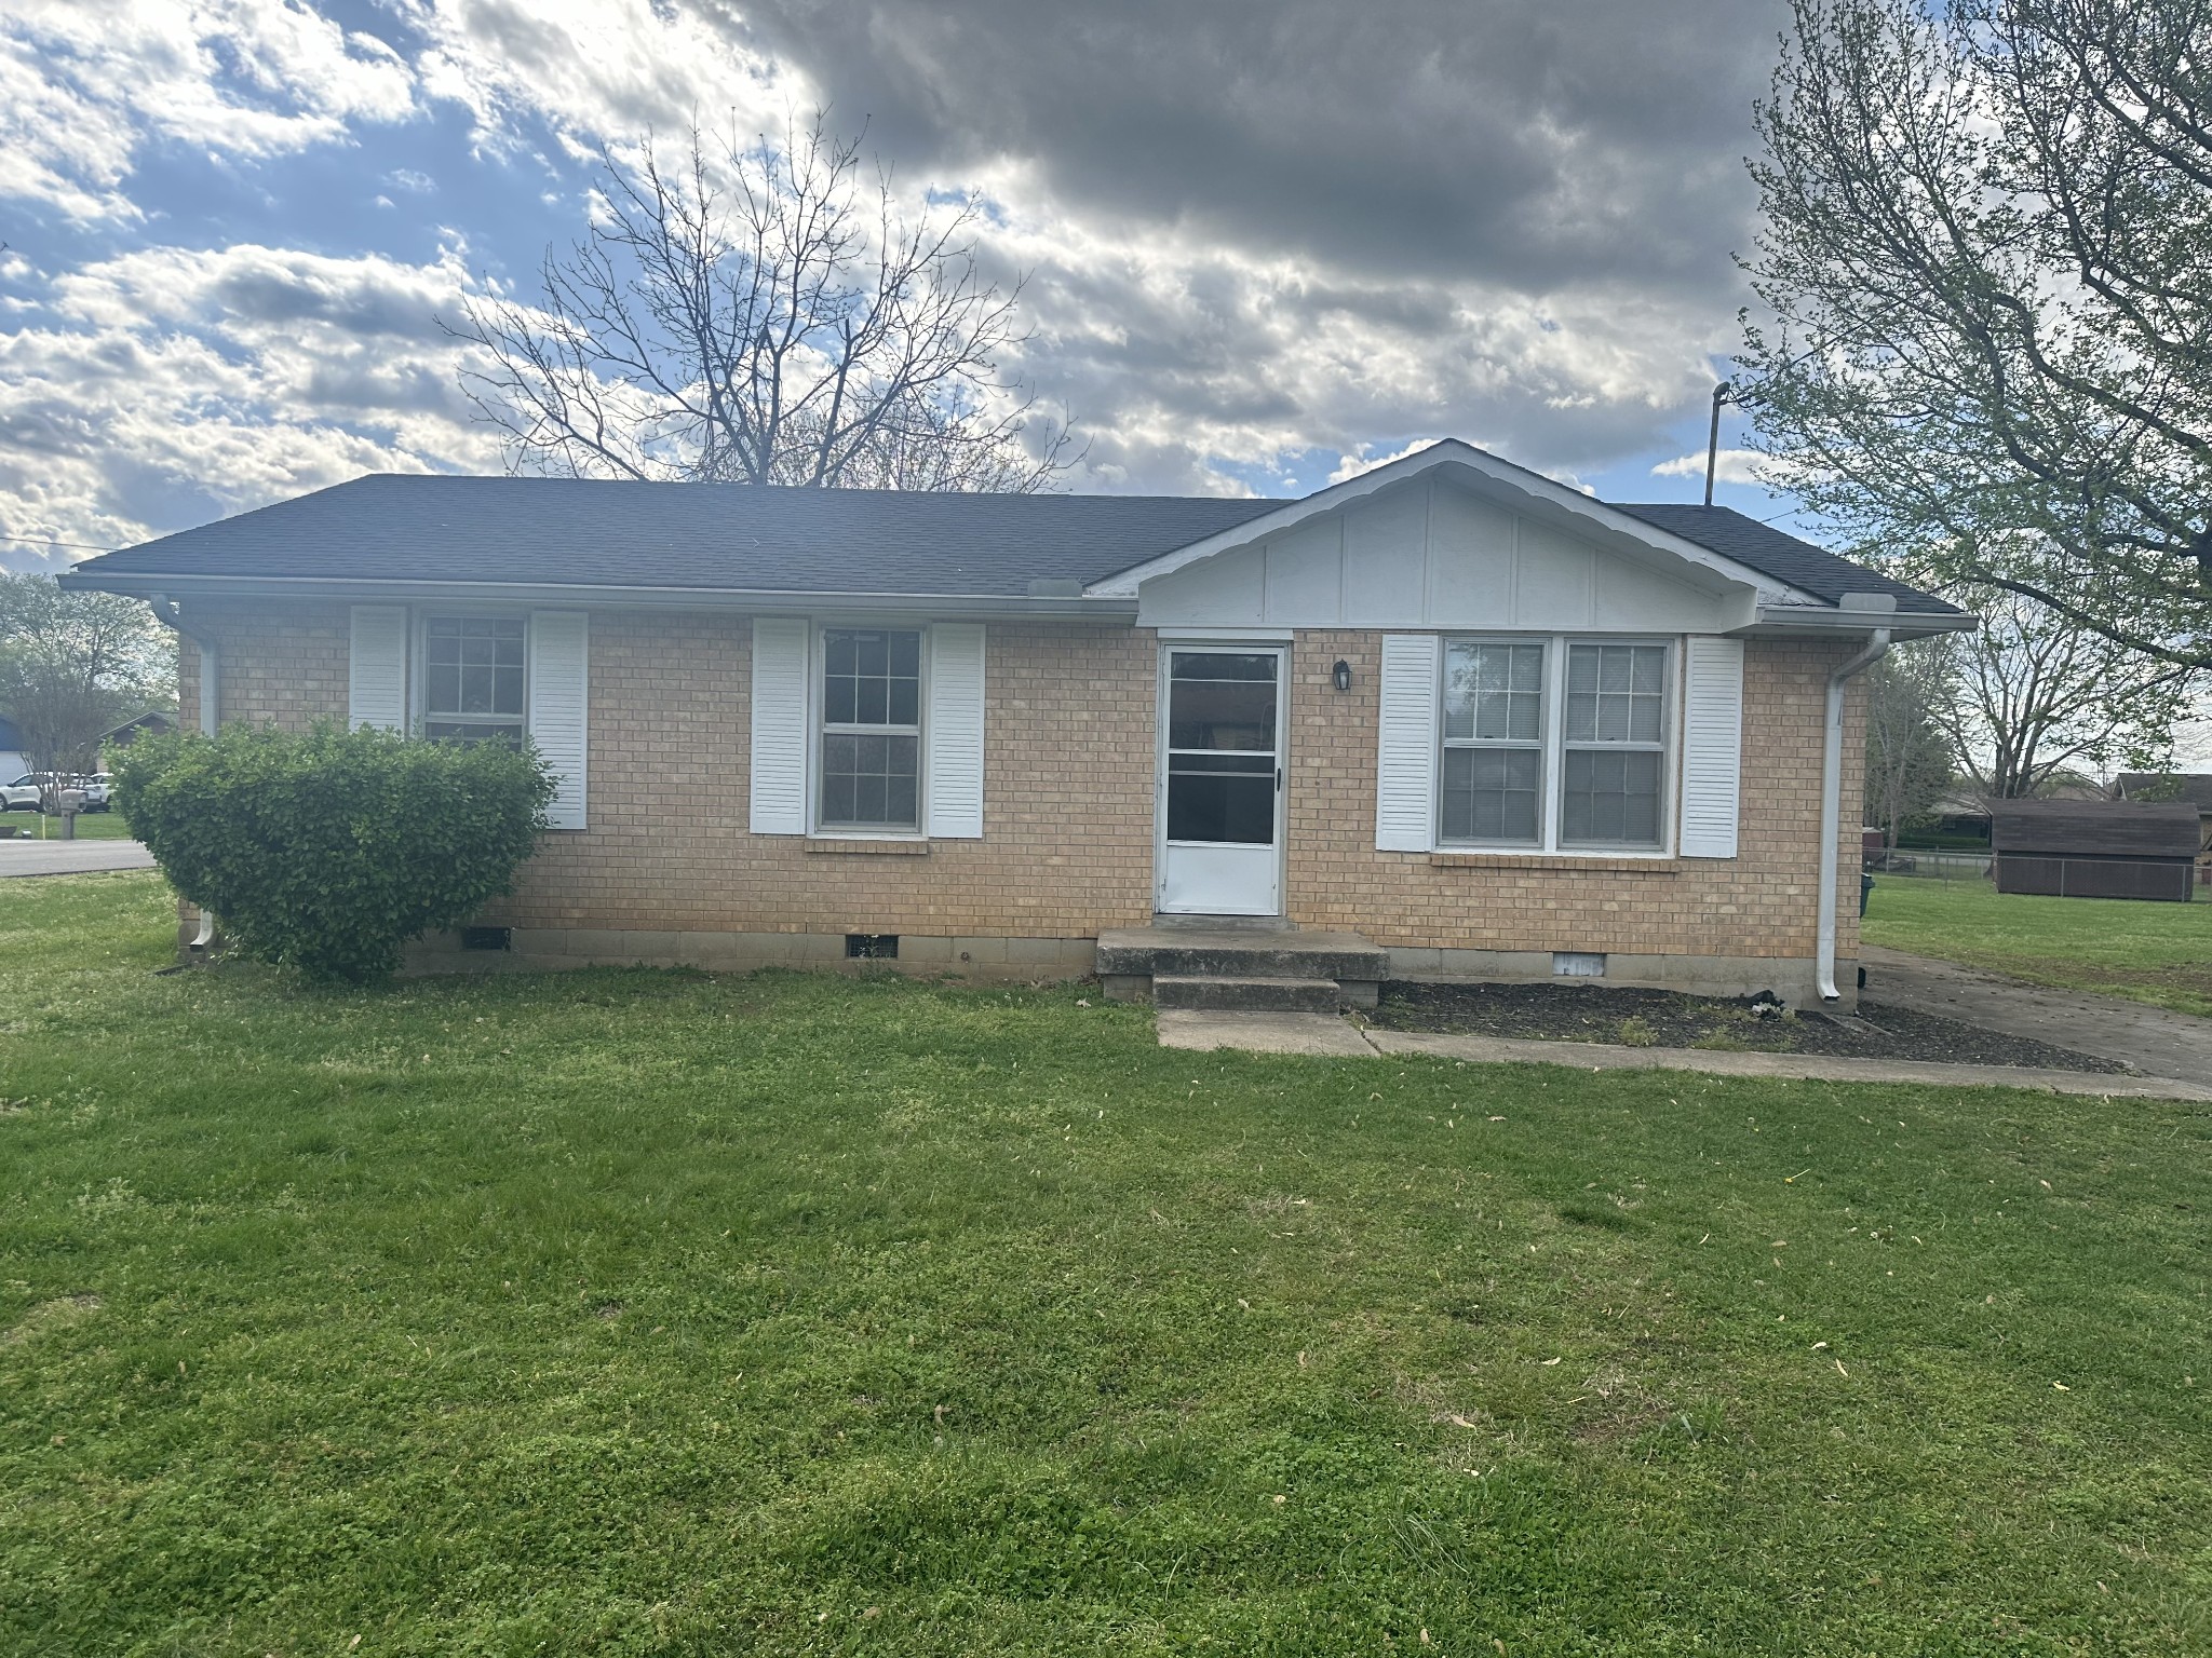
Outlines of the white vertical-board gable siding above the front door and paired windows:
{"type": "Polygon", "coordinates": [[[1747,597],[1705,592],[1420,478],[1152,577],[1137,592],[1137,623],[1725,632],[1747,619],[1747,597]]]}

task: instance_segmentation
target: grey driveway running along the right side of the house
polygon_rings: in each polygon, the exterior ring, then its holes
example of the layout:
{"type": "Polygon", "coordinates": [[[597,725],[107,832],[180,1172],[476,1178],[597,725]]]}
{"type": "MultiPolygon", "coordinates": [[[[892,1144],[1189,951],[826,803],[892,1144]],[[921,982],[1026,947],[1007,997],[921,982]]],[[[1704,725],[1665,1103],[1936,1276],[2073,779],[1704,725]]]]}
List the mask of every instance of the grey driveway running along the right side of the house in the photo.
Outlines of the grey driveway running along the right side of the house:
{"type": "MultiPolygon", "coordinates": [[[[2168,1012],[2126,997],[2044,990],[1927,955],[1860,946],[1869,1008],[1891,1004],[1960,1024],[2097,1054],[2152,1077],[2212,1083],[2212,1019],[2168,1012]]],[[[1880,1015],[1876,1015],[1880,1019],[1880,1015]]]]}

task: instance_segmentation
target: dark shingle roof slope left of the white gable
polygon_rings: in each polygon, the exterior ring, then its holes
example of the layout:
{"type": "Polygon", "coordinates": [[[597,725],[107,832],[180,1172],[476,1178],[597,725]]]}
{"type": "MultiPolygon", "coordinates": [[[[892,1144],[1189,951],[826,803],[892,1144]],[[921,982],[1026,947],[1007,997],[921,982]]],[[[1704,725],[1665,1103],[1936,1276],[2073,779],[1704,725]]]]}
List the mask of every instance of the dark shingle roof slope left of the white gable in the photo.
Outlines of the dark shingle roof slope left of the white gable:
{"type": "Polygon", "coordinates": [[[77,568],[1020,597],[1035,579],[1095,581],[1276,506],[380,473],[77,568]]]}

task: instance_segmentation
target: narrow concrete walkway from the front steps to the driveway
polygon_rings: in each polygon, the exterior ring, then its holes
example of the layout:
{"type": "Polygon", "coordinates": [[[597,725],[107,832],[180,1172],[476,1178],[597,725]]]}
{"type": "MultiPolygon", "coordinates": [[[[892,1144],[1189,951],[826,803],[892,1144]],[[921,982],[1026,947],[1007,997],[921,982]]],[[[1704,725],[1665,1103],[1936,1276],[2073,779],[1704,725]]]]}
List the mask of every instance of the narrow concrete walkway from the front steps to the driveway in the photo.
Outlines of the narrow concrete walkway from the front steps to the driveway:
{"type": "MultiPolygon", "coordinates": [[[[1871,977],[1871,975],[1869,975],[1871,977]]],[[[1951,1066],[1924,1059],[1834,1059],[1827,1054],[1732,1054],[1705,1048],[1621,1048],[1606,1041],[1522,1041],[1442,1037],[1413,1030],[1360,1030],[1329,1012],[1199,1012],[1161,1008],[1161,1048],[1241,1048],[1261,1054],[1383,1059],[1429,1054],[1480,1066],[1571,1066],[1575,1070],[1699,1070],[1714,1077],[1803,1077],[1834,1083],[1942,1083],[1949,1088],[2035,1088],[2099,1099],[2203,1099],[2212,1088],[2163,1077],[2099,1077],[2026,1066],[1951,1066]]]]}

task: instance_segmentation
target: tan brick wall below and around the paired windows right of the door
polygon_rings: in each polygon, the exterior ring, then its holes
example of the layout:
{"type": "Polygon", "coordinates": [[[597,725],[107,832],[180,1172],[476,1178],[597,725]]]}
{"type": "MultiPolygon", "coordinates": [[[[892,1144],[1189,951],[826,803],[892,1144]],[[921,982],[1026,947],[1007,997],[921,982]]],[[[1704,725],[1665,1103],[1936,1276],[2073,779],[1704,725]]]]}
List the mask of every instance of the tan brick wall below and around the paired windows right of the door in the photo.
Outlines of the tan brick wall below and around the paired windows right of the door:
{"type": "MultiPolygon", "coordinates": [[[[1851,646],[1750,641],[1743,652],[1743,814],[1736,858],[1597,864],[1376,851],[1380,634],[1301,632],[1290,668],[1290,915],[1376,944],[1639,955],[1814,953],[1820,718],[1851,646]],[[1347,661],[1354,688],[1329,668],[1347,661]]],[[[1838,948],[1858,951],[1858,699],[1845,707],[1847,787],[1838,948]]]]}

